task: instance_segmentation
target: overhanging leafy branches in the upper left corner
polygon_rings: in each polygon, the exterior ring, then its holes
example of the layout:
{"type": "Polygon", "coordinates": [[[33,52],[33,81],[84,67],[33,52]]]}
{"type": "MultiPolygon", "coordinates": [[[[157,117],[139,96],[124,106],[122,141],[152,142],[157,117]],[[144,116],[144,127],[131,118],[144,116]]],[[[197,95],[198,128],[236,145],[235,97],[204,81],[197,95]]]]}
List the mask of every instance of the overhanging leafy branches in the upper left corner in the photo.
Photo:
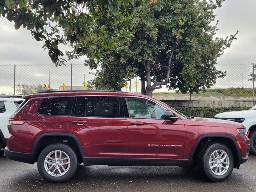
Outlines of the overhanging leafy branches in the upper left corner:
{"type": "Polygon", "coordinates": [[[129,34],[130,14],[144,0],[0,0],[0,15],[13,21],[16,29],[23,26],[32,37],[44,42],[43,48],[54,64],[65,62],[59,44],[70,45],[74,52],[92,60],[102,48],[122,43],[129,34]],[[51,25],[50,25],[51,24],[51,25]],[[52,26],[54,24],[54,26],[52,26]],[[47,26],[50,26],[47,28],[47,26]],[[64,36],[58,34],[62,28],[64,36]],[[56,33],[57,32],[57,33],[56,33]],[[91,38],[94,44],[91,44],[91,38]]]}

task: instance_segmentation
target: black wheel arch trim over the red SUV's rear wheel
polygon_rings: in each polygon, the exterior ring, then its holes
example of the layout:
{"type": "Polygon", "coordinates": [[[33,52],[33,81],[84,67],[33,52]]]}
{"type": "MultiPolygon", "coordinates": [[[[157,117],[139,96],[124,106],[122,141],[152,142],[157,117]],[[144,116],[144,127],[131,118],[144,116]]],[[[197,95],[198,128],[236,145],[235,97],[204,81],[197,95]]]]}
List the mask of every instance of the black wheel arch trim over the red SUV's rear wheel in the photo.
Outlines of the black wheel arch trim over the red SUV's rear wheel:
{"type": "Polygon", "coordinates": [[[48,145],[54,143],[64,143],[72,147],[80,161],[85,158],[84,150],[78,138],[74,134],[65,133],[65,132],[50,132],[43,133],[36,138],[32,149],[31,154],[34,154],[34,162],[37,162],[40,152],[48,145]]]}

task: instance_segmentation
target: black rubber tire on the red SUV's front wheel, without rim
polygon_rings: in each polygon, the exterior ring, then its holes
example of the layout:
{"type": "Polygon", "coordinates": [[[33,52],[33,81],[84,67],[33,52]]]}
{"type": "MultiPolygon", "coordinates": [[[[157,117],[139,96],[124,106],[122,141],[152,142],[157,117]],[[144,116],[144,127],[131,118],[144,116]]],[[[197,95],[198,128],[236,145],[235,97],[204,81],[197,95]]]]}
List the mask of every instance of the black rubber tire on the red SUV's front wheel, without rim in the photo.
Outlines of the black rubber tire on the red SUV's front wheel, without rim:
{"type": "Polygon", "coordinates": [[[209,143],[203,146],[203,148],[200,150],[198,154],[198,168],[202,175],[204,175],[206,178],[214,181],[214,182],[221,182],[226,180],[228,176],[233,171],[234,168],[234,157],[232,154],[232,151],[224,144],[222,143],[209,143]],[[210,169],[210,156],[215,150],[224,150],[226,154],[228,154],[229,157],[229,167],[225,174],[218,176],[212,172],[210,169]]]}

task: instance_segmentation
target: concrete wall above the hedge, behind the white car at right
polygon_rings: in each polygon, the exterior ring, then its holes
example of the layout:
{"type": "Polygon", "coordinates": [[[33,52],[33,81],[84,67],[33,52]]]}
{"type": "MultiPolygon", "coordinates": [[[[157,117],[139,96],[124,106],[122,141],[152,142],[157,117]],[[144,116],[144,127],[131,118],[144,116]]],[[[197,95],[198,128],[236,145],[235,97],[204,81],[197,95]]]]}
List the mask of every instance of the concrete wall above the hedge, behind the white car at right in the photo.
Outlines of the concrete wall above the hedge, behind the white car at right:
{"type": "Polygon", "coordinates": [[[174,107],[252,107],[256,104],[250,100],[161,100],[174,107]]]}

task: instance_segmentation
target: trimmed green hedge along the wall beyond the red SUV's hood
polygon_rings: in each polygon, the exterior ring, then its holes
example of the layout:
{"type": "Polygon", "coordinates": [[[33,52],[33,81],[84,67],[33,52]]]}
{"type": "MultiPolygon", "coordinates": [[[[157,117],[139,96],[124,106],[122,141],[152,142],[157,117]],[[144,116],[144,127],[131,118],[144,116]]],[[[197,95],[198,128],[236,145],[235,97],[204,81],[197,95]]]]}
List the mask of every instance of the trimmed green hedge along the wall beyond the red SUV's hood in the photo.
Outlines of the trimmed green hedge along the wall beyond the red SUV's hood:
{"type": "Polygon", "coordinates": [[[214,118],[218,113],[248,110],[250,107],[175,107],[175,109],[186,116],[214,118]]]}

